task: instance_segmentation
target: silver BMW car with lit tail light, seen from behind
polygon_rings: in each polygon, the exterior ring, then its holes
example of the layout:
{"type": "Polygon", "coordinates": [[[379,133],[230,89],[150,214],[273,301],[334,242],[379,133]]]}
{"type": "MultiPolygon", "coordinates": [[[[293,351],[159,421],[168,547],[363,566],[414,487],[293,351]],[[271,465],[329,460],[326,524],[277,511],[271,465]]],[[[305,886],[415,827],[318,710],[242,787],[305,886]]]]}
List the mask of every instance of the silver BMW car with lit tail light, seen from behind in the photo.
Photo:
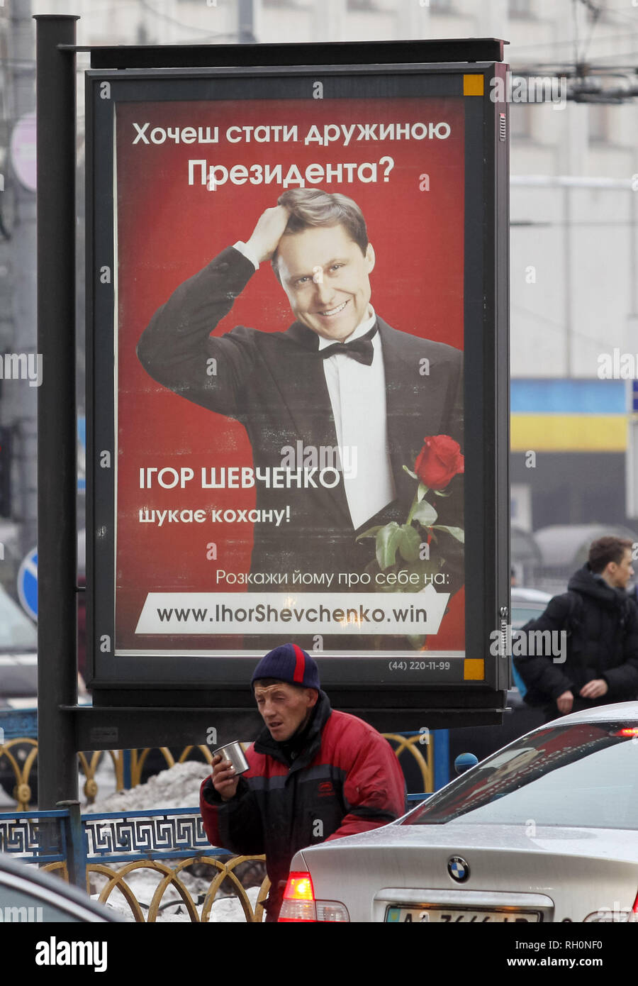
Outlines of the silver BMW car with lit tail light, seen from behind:
{"type": "Polygon", "coordinates": [[[638,920],[638,702],[563,716],[390,825],[297,853],[279,920],[638,920]]]}

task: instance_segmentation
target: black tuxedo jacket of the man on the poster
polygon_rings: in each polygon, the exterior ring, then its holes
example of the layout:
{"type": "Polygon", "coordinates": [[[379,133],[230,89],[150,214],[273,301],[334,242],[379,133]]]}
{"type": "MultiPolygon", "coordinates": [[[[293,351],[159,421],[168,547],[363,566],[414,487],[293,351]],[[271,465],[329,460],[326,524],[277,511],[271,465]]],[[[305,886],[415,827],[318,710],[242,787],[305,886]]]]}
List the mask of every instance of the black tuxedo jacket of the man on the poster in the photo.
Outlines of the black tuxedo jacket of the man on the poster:
{"type": "MultiPolygon", "coordinates": [[[[254,468],[263,470],[282,465],[286,446],[296,450],[301,441],[305,447],[333,449],[337,438],[315,332],[296,321],[286,332],[239,325],[225,335],[210,335],[253,273],[252,263],[239,250],[225,249],[158,309],[137,354],[160,384],[240,421],[248,432],[254,468]]],[[[359,531],[389,520],[405,523],[416,480],[403,465],[413,468],[425,436],[446,434],[461,442],[461,351],[397,331],[383,318],[378,318],[378,327],[396,500],[359,531]]],[[[365,454],[358,449],[359,458],[365,454]]],[[[211,464],[226,463],[220,459],[211,464]]],[[[359,531],[352,526],[342,473],[330,489],[319,484],[318,476],[313,477],[316,488],[268,488],[256,481],[256,508],[267,512],[289,506],[290,520],[279,527],[274,522],[255,524],[252,572],[362,572],[374,558],[374,540],[355,539],[359,531]]],[[[328,481],[333,479],[330,473],[328,481]]],[[[446,523],[448,509],[453,515],[449,523],[459,526],[461,477],[453,484],[456,495],[440,499],[437,508],[440,523],[446,523]]]]}

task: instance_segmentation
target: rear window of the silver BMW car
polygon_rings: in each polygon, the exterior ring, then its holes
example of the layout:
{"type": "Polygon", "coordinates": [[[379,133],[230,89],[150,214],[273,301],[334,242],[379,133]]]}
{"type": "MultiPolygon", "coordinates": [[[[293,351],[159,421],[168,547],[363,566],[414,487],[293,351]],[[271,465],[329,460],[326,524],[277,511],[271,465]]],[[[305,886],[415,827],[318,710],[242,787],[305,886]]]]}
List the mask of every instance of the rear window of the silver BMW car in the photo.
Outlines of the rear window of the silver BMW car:
{"type": "Polygon", "coordinates": [[[441,825],[456,818],[638,829],[638,721],[552,726],[524,737],[401,824],[441,825]]]}

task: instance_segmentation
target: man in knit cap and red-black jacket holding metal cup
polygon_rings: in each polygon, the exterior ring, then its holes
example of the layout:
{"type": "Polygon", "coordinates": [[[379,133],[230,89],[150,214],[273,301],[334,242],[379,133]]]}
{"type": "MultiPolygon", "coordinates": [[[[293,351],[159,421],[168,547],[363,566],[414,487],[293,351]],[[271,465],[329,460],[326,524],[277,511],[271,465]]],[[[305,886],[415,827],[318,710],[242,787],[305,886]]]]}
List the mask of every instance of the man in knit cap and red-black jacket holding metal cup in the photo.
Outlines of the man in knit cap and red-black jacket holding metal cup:
{"type": "Polygon", "coordinates": [[[235,775],[214,757],[200,808],[212,845],[265,853],[276,921],[295,853],[386,825],[405,810],[405,781],[388,740],[362,719],[333,711],[319,669],[296,644],[261,659],[251,681],[265,723],[235,775]]]}

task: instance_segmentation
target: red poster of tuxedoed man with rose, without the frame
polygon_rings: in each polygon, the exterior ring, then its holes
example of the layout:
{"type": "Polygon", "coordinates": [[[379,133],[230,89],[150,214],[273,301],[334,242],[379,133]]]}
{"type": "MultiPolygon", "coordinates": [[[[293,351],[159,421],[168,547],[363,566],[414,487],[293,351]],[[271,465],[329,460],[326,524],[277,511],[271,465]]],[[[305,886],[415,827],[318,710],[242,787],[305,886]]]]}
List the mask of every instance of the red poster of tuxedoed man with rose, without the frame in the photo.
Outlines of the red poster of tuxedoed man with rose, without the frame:
{"type": "Polygon", "coordinates": [[[116,107],[115,654],[464,650],[463,113],[116,107]]]}

